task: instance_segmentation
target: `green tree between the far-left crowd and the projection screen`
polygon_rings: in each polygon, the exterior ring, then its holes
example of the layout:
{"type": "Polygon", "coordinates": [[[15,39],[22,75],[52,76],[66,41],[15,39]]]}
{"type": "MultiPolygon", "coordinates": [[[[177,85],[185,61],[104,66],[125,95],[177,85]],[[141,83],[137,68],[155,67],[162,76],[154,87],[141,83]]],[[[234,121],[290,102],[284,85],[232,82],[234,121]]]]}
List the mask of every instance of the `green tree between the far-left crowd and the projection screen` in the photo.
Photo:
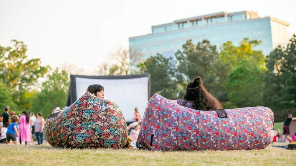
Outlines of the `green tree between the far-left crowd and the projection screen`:
{"type": "Polygon", "coordinates": [[[66,71],[55,69],[47,76],[32,103],[32,112],[41,112],[45,117],[51,114],[52,109],[63,108],[66,103],[69,87],[69,78],[66,71]]]}

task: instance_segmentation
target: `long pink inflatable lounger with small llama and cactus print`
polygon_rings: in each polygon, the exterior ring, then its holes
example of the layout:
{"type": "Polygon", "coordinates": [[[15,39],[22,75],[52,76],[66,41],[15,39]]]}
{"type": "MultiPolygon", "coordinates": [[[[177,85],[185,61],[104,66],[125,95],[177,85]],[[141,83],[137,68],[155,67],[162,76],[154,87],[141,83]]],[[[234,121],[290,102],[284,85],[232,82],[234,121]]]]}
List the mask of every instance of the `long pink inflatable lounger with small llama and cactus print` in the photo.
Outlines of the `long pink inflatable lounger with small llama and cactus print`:
{"type": "Polygon", "coordinates": [[[153,151],[263,149],[272,143],[273,121],[267,107],[199,111],[155,93],[136,145],[153,151]]]}

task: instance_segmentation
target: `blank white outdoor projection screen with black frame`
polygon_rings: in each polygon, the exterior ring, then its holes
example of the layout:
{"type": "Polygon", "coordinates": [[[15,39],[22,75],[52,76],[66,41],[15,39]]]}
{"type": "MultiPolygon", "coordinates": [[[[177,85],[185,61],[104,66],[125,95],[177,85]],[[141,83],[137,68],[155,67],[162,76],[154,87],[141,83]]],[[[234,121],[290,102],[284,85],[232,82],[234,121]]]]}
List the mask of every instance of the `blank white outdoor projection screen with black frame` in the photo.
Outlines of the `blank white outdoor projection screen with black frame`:
{"type": "Polygon", "coordinates": [[[67,106],[82,96],[89,85],[100,84],[105,88],[104,99],[117,103],[127,122],[133,121],[135,107],[138,107],[143,118],[150,96],[149,74],[130,76],[71,75],[70,78],[67,106]]]}

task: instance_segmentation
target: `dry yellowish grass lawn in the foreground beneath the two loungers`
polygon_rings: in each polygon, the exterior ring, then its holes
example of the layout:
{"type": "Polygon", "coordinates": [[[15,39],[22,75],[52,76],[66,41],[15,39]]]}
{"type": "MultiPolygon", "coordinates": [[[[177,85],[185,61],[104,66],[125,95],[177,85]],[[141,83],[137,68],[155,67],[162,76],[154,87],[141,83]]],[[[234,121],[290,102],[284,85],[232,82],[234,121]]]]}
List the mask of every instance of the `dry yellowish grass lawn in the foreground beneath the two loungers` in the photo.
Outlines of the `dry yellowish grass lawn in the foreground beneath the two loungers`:
{"type": "MultiPolygon", "coordinates": [[[[285,146],[284,143],[274,143],[285,146]]],[[[296,165],[296,150],[151,152],[0,144],[0,165],[296,165]]]]}

